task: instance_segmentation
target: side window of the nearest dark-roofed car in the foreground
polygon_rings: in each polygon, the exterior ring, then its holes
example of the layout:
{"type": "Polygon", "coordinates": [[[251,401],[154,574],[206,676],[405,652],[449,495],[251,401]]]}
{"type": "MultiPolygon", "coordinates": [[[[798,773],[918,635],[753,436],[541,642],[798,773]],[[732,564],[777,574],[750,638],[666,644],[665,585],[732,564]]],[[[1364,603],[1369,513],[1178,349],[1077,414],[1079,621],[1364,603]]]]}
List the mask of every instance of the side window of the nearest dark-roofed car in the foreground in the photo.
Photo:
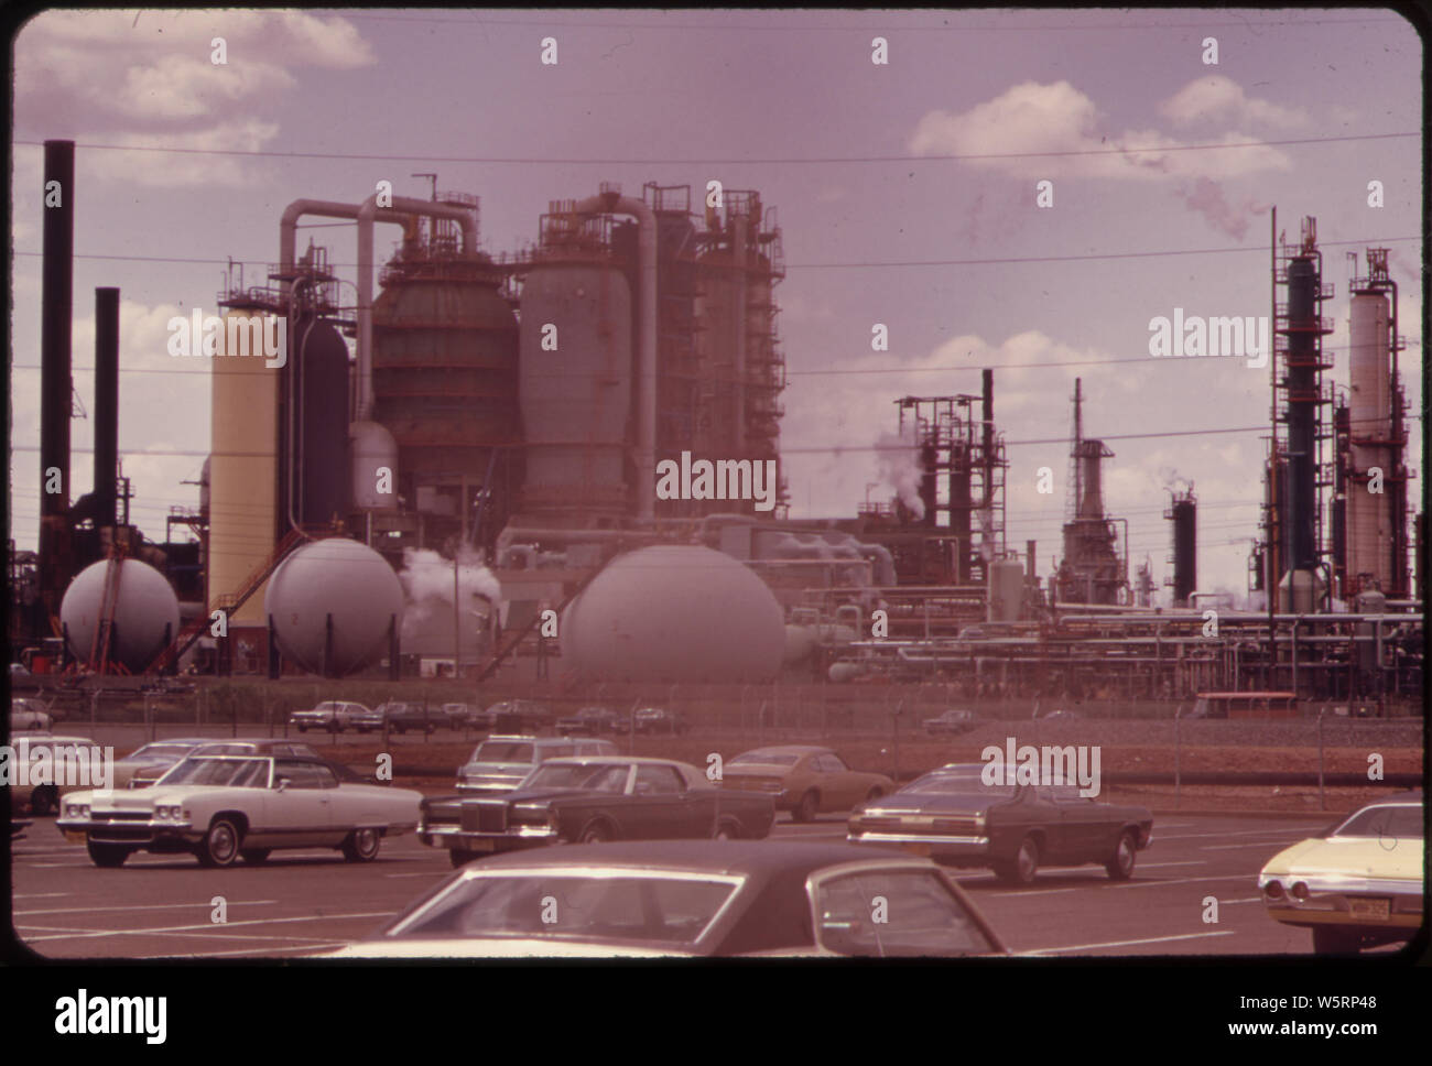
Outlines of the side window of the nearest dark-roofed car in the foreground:
{"type": "Polygon", "coordinates": [[[816,913],[821,946],[838,954],[885,959],[994,950],[934,870],[875,870],[821,881],[816,913]]]}

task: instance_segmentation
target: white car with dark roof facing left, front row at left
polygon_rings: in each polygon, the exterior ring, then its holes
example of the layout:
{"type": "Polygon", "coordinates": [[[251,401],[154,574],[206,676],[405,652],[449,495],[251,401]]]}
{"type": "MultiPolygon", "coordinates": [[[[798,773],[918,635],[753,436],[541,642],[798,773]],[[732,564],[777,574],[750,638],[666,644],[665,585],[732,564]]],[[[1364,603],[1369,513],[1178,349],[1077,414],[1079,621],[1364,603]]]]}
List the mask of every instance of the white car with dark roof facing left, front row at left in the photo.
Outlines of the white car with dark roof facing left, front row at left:
{"type": "Polygon", "coordinates": [[[72,793],[56,826],[96,866],[135,851],[190,853],[203,866],[262,863],[275,849],[332,847],[349,863],[417,827],[422,794],[339,781],[315,758],[190,756],[140,791],[72,793]]]}

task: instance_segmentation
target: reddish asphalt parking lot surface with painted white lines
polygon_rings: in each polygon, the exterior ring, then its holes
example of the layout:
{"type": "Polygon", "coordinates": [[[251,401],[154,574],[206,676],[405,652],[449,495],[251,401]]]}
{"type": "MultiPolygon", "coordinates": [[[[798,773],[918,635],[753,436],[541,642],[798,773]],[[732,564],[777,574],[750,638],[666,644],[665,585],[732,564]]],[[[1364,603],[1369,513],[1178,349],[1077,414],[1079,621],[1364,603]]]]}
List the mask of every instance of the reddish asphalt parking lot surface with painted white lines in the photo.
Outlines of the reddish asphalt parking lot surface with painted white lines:
{"type": "MultiPolygon", "coordinates": [[[[1312,937],[1270,920],[1254,881],[1274,853],[1330,821],[1169,814],[1131,881],[1095,866],[1045,867],[1030,887],[982,870],[961,883],[1010,949],[1045,956],[1310,954],[1312,937]],[[1217,901],[1217,921],[1210,899],[1217,901]]],[[[772,840],[839,840],[845,821],[793,824],[772,840]]],[[[189,856],[136,854],[90,864],[53,818],[13,844],[16,931],[52,959],[282,957],[359,939],[451,874],[445,851],[414,836],[384,843],[372,864],[335,851],[281,851],[262,867],[206,870],[189,856]],[[223,919],[222,921],[218,919],[223,919]]],[[[1395,950],[1395,949],[1380,949],[1395,950]]]]}

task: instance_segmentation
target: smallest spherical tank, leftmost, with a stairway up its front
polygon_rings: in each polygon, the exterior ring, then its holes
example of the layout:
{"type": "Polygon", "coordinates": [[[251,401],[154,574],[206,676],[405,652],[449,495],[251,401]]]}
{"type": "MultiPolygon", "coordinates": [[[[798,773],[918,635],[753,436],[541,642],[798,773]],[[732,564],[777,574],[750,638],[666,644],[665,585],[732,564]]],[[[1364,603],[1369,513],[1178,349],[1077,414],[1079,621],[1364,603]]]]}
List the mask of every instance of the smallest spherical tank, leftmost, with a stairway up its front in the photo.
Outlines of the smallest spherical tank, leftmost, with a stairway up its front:
{"type": "MultiPolygon", "coordinates": [[[[60,601],[70,652],[86,662],[95,647],[109,565],[109,559],[102,559],[82,569],[60,601]]],[[[109,660],[139,674],[179,632],[179,598],[153,567],[139,559],[122,559],[117,565],[119,597],[109,660]]]]}

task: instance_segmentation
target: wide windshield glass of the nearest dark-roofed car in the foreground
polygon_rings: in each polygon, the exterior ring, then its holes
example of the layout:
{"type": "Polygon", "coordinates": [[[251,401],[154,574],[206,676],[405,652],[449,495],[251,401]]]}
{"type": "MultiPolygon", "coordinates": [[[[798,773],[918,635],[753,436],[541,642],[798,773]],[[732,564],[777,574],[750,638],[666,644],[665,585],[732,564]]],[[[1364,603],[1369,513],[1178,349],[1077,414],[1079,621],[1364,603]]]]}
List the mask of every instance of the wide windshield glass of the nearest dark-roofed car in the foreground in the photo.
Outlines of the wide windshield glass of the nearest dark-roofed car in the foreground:
{"type": "Polygon", "coordinates": [[[660,874],[470,877],[388,936],[556,937],[692,944],[737,886],[660,874]]]}

